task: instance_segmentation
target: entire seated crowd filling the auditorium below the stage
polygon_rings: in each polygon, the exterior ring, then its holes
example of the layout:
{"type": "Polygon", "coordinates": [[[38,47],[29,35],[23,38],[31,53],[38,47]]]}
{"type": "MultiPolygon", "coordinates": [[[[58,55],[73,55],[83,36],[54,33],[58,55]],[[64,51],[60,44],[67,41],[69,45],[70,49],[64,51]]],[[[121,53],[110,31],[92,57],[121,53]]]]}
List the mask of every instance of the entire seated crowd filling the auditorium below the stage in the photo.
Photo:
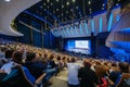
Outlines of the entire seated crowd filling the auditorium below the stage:
{"type": "Polygon", "coordinates": [[[54,74],[64,69],[68,72],[68,87],[115,87],[122,73],[130,73],[128,63],[89,57],[80,60],[78,57],[18,42],[2,45],[2,48],[4,49],[0,51],[0,73],[8,75],[12,66],[18,64],[34,85],[44,73],[42,84],[47,85],[54,74]],[[1,59],[5,60],[4,63],[1,59]]]}

